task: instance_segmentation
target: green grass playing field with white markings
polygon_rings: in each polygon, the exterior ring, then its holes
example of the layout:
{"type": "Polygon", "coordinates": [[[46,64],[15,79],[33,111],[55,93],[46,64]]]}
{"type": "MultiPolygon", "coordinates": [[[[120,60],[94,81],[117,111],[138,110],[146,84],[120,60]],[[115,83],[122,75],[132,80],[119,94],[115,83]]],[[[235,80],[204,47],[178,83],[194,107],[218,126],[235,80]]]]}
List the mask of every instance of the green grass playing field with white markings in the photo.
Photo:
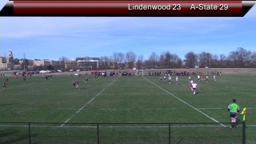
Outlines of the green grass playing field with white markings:
{"type": "MultiPolygon", "coordinates": [[[[230,126],[230,115],[226,107],[232,102],[233,98],[236,98],[240,108],[246,106],[248,111],[246,114],[246,142],[256,143],[256,87],[254,84],[256,78],[252,75],[222,75],[217,77],[217,82],[214,82],[212,76],[210,76],[210,82],[198,82],[199,89],[196,95],[193,95],[190,90],[187,76],[179,77],[178,86],[174,82],[174,77],[171,84],[158,82],[159,77],[156,76],[98,77],[96,79],[89,77],[89,82],[86,84],[85,76],[82,76],[79,78],[80,90],[72,89],[73,79],[70,76],[56,76],[52,80],[48,79],[46,81],[42,77],[32,77],[27,78],[26,84],[23,84],[21,77],[10,77],[6,90],[0,91],[1,122],[57,122],[48,124],[49,126],[70,126],[70,123],[74,122],[208,122],[214,124],[214,130],[216,127],[223,127],[222,130],[218,130],[218,134],[221,134],[224,138],[225,136],[232,136],[229,127],[227,127],[230,126]]],[[[196,79],[195,75],[193,79],[196,79]]],[[[1,82],[3,80],[4,78],[1,78],[1,82]]],[[[238,122],[242,122],[242,115],[240,114],[238,122]]],[[[15,124],[15,126],[19,125],[23,124],[15,124]]],[[[46,124],[41,123],[40,125],[42,125],[40,129],[33,127],[33,130],[39,132],[45,130],[48,133],[41,135],[40,138],[50,139],[50,136],[56,136],[55,129],[50,132],[49,129],[42,128],[46,124]]],[[[186,127],[191,125],[186,125],[186,127]]],[[[94,127],[95,125],[91,124],[91,126],[94,127]]],[[[242,129],[241,125],[239,126],[237,129],[240,134],[242,129]]],[[[162,130],[158,129],[160,126],[156,127],[148,133],[161,135],[166,134],[166,131],[168,132],[168,129],[162,130]]],[[[205,134],[205,130],[200,126],[196,126],[195,129],[188,129],[186,132],[193,135],[194,131],[197,131],[197,134],[201,131],[204,136],[216,133],[215,130],[208,131],[208,134],[205,134]]],[[[0,133],[3,134],[6,130],[10,130],[11,133],[13,129],[1,124],[0,133]]],[[[26,131],[27,128],[20,127],[17,135],[22,134],[23,130],[26,131]]],[[[76,129],[76,131],[79,130],[81,129],[76,129]]],[[[67,134],[67,131],[69,130],[62,130],[62,134],[67,134]]],[[[120,134],[125,133],[122,130],[118,132],[120,134]]],[[[140,134],[139,131],[136,132],[140,134]]],[[[89,135],[93,133],[89,132],[89,135]]],[[[184,131],[181,134],[183,133],[184,131]]],[[[75,134],[78,139],[81,138],[79,134],[81,133],[77,132],[75,134]]],[[[109,136],[106,135],[106,137],[109,136]]],[[[19,139],[7,141],[5,138],[8,137],[0,136],[0,143],[19,143],[19,139]]],[[[102,138],[104,137],[102,136],[102,138]]],[[[220,137],[220,139],[222,138],[220,137]]],[[[182,143],[189,143],[190,140],[191,138],[183,139],[182,143]]],[[[209,143],[207,139],[204,140],[204,142],[199,143],[209,143]]],[[[59,142],[58,139],[55,139],[55,141],[59,142]]],[[[52,140],[51,142],[55,141],[52,140]]],[[[65,138],[64,141],[68,142],[65,138]]],[[[93,141],[94,139],[91,140],[91,142],[93,141]]],[[[140,142],[143,141],[141,139],[134,139],[134,141],[135,143],[143,143],[140,142]]],[[[87,141],[87,143],[91,142],[87,141]]],[[[118,143],[117,140],[113,140],[113,142],[118,143]]],[[[125,139],[122,142],[125,143],[125,139]]],[[[161,139],[155,139],[155,141],[151,139],[150,142],[163,143],[161,139]]],[[[129,143],[129,140],[127,140],[127,143],[129,143]]]]}

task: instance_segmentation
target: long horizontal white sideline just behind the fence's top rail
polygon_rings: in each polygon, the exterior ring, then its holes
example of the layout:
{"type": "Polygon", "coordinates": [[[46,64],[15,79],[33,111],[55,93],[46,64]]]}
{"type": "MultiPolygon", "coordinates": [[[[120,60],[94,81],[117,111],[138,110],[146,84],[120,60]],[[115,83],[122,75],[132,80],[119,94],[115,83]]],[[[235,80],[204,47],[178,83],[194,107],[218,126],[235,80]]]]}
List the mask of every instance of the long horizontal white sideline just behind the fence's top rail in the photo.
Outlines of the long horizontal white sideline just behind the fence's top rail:
{"type": "MultiPolygon", "coordinates": [[[[100,123],[99,123],[100,124],[100,123]]],[[[86,124],[86,125],[96,125],[96,124],[86,124]]],[[[118,124],[117,124],[118,125],[118,124]]],[[[160,125],[168,125],[168,124],[161,124],[160,125]]],[[[170,125],[181,125],[181,124],[170,124],[170,125]]],[[[97,128],[97,126],[47,126],[47,125],[30,125],[31,127],[52,127],[52,128],[97,128]]],[[[28,125],[0,125],[0,127],[28,127],[28,125]]],[[[100,128],[168,128],[169,126],[98,126],[100,128]]],[[[191,126],[191,125],[184,125],[184,126],[170,126],[171,128],[187,128],[187,127],[218,127],[215,125],[208,125],[202,126],[191,126]]],[[[238,125],[237,127],[242,127],[238,125]]],[[[256,125],[246,125],[246,127],[256,127],[256,125]]]]}

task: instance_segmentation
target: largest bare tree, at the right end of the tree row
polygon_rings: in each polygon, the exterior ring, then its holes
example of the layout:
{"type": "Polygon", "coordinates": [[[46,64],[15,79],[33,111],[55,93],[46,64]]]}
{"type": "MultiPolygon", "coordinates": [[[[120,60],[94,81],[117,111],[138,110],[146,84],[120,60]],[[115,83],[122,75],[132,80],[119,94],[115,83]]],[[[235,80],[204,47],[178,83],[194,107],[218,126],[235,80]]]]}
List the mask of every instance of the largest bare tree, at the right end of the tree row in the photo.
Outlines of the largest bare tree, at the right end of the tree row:
{"type": "Polygon", "coordinates": [[[252,52],[250,50],[238,47],[238,50],[230,52],[229,59],[234,63],[235,67],[248,67],[251,55],[252,52]]]}

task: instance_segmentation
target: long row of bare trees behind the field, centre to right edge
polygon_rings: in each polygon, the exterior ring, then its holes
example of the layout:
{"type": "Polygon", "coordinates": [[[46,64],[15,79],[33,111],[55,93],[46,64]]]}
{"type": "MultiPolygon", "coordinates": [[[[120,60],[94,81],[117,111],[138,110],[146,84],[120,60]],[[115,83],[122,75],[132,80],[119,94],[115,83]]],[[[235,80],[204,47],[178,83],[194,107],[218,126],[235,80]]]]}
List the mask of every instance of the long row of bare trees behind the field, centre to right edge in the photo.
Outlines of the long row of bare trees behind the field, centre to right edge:
{"type": "Polygon", "coordinates": [[[250,68],[256,67],[256,52],[246,50],[238,47],[237,50],[230,51],[230,54],[210,54],[203,51],[196,54],[190,51],[185,54],[185,59],[179,58],[177,54],[171,54],[169,51],[157,54],[152,52],[149,58],[143,55],[137,55],[132,51],[121,53],[115,52],[110,57],[100,58],[100,69],[107,69],[110,67],[127,67],[132,69],[134,66],[137,68],[193,68],[211,67],[211,68],[250,68]]]}

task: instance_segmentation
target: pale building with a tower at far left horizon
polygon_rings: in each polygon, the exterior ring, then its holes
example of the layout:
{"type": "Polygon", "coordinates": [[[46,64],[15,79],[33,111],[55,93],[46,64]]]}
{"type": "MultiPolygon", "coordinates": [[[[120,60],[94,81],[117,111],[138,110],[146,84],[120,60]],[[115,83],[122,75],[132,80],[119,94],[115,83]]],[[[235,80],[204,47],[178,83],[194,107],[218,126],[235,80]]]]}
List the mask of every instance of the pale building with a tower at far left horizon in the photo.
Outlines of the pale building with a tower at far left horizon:
{"type": "Polygon", "coordinates": [[[7,57],[0,57],[0,70],[10,70],[13,66],[13,61],[13,52],[9,51],[7,57]]]}

